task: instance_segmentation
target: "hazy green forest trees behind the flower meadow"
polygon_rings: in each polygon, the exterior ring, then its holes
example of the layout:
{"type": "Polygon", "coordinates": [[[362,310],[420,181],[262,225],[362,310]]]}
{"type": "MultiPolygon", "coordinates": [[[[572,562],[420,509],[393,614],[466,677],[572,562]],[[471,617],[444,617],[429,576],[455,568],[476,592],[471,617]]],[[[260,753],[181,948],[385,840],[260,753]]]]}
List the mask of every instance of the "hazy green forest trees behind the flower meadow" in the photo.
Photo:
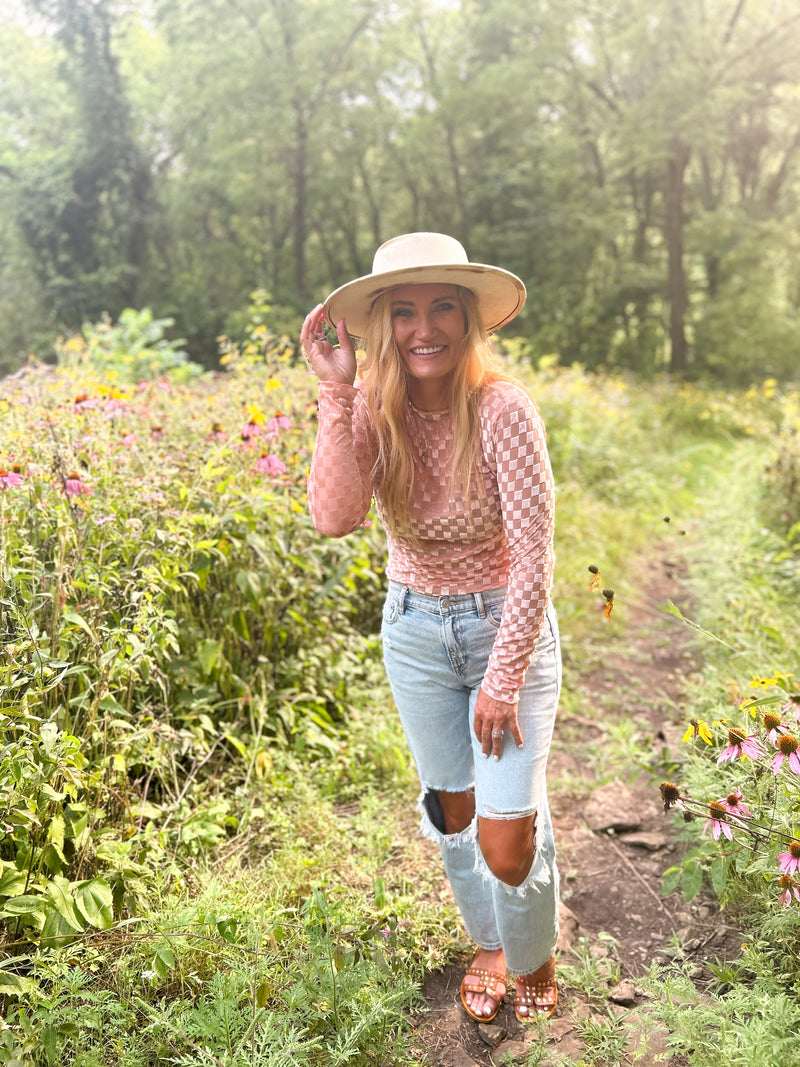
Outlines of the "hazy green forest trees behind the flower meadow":
{"type": "Polygon", "coordinates": [[[0,367],[144,306],[211,366],[439,229],[534,354],[782,378],[799,82],[796,0],[3,0],[0,367]]]}

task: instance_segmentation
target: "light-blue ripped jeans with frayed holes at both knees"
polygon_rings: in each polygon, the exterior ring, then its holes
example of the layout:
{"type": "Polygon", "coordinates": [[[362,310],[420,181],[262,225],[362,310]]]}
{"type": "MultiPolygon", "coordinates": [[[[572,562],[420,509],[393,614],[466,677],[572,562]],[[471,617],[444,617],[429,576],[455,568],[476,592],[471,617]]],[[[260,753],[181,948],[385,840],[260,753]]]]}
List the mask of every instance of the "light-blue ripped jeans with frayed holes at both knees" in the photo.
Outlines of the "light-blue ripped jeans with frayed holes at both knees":
{"type": "Polygon", "coordinates": [[[550,605],[519,691],[524,746],[508,729],[499,761],[483,759],[473,732],[478,690],[492,652],[505,589],[431,596],[389,583],[383,656],[400,720],[422,785],[422,832],[436,841],[464,926],[481,949],[502,949],[512,974],[530,974],[558,939],[558,869],[545,770],[561,687],[561,653],[550,605]],[[521,886],[489,870],[477,819],[446,834],[437,792],[475,790],[477,815],[535,812],[533,863],[521,886]]]}

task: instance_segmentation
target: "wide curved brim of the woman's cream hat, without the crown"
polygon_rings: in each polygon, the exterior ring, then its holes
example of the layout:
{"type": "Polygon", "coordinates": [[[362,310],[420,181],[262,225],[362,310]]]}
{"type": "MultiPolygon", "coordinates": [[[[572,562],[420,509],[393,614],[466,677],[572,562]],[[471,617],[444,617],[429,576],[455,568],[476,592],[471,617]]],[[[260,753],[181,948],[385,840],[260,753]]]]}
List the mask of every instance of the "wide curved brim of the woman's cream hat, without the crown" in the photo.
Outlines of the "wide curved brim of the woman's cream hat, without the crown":
{"type": "Polygon", "coordinates": [[[435,264],[367,274],[348,282],[325,300],[325,318],[333,327],[345,319],[348,333],[353,337],[363,337],[372,304],[382,293],[396,289],[399,285],[422,285],[430,282],[471,289],[489,333],[499,330],[518,315],[526,298],[522,281],[500,267],[490,267],[486,264],[435,264]]]}

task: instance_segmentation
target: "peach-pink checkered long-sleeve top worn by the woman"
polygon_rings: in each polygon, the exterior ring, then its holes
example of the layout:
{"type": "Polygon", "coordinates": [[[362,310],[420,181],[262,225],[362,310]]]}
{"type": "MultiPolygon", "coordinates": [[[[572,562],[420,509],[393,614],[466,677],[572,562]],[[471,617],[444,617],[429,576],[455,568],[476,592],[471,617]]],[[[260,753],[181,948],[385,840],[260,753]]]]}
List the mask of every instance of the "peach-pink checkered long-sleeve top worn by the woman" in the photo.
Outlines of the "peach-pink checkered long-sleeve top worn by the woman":
{"type": "MultiPolygon", "coordinates": [[[[389,537],[389,578],[421,593],[455,596],[508,585],[502,620],[483,680],[496,700],[514,701],[533,656],[553,582],[555,491],[544,426],[535,404],[513,382],[481,395],[480,474],[465,500],[450,488],[453,446],[449,412],[410,405],[416,452],[413,543],[389,537]]],[[[317,447],[308,504],[317,529],[342,537],[356,529],[381,487],[366,401],[357,386],[320,382],[317,447]]]]}

